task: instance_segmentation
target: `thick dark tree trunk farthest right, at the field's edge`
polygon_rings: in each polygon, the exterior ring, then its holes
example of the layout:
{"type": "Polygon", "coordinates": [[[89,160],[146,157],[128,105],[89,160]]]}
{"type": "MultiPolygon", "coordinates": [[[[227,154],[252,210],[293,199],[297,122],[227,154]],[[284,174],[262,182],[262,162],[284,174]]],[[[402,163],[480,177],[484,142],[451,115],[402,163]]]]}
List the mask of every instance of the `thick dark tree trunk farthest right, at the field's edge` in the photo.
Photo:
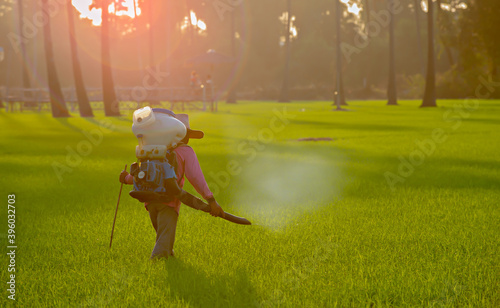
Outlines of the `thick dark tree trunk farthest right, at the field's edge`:
{"type": "Polygon", "coordinates": [[[427,77],[420,107],[436,107],[436,67],[434,63],[434,7],[427,0],[427,77]]]}

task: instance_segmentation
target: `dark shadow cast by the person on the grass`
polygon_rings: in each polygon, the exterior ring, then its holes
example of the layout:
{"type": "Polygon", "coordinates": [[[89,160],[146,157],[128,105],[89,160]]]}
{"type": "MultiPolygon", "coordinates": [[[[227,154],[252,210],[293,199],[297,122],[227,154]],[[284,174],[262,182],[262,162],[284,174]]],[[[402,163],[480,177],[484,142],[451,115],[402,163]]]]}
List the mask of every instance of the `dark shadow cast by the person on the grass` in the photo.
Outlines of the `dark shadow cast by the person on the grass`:
{"type": "Polygon", "coordinates": [[[257,307],[258,299],[244,271],[208,276],[203,271],[171,258],[160,261],[170,296],[192,307],[257,307]]]}

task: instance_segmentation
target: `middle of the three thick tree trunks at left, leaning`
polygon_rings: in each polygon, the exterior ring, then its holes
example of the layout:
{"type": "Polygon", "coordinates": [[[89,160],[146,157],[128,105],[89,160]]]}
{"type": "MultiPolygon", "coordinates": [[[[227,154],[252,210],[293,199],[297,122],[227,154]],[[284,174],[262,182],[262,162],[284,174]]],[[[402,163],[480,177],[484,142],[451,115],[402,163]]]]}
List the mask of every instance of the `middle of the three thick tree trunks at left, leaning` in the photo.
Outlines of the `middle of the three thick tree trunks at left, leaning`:
{"type": "Polygon", "coordinates": [[[76,44],[76,33],[75,33],[75,20],[73,17],[74,8],[73,4],[71,3],[71,0],[66,0],[66,1],[67,1],[66,8],[68,13],[69,45],[71,48],[71,62],[73,65],[73,78],[75,80],[76,97],[78,100],[80,116],[93,117],[94,114],[92,112],[92,107],[90,107],[87,91],[85,90],[82,68],[80,66],[80,60],[78,58],[78,47],[76,44]]]}

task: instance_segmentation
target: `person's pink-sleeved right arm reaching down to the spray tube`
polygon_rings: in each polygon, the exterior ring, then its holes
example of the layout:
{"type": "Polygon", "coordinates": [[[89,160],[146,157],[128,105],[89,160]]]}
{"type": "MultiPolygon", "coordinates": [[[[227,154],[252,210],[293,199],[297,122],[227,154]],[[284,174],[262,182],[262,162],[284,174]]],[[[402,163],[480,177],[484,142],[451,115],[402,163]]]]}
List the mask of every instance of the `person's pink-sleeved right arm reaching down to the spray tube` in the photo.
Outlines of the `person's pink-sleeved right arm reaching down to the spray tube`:
{"type": "Polygon", "coordinates": [[[189,183],[191,183],[194,189],[196,189],[196,191],[208,201],[211,208],[210,214],[212,216],[224,217],[224,210],[222,210],[221,206],[217,203],[217,201],[215,201],[213,193],[210,191],[210,188],[208,188],[208,184],[205,180],[205,176],[203,175],[203,171],[201,171],[196,153],[191,147],[182,147],[180,150],[183,151],[184,174],[189,183]]]}

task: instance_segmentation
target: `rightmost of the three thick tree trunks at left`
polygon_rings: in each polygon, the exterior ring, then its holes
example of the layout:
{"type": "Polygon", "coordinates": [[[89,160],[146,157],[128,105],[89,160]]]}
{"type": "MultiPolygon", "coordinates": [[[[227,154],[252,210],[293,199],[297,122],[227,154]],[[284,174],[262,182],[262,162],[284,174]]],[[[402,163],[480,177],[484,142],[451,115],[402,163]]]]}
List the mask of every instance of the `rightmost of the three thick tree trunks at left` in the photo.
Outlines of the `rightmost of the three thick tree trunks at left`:
{"type": "Polygon", "coordinates": [[[107,117],[119,116],[120,106],[116,99],[113,72],[111,71],[111,54],[109,51],[109,0],[101,0],[101,67],[102,67],[102,96],[104,113],[107,117]]]}

